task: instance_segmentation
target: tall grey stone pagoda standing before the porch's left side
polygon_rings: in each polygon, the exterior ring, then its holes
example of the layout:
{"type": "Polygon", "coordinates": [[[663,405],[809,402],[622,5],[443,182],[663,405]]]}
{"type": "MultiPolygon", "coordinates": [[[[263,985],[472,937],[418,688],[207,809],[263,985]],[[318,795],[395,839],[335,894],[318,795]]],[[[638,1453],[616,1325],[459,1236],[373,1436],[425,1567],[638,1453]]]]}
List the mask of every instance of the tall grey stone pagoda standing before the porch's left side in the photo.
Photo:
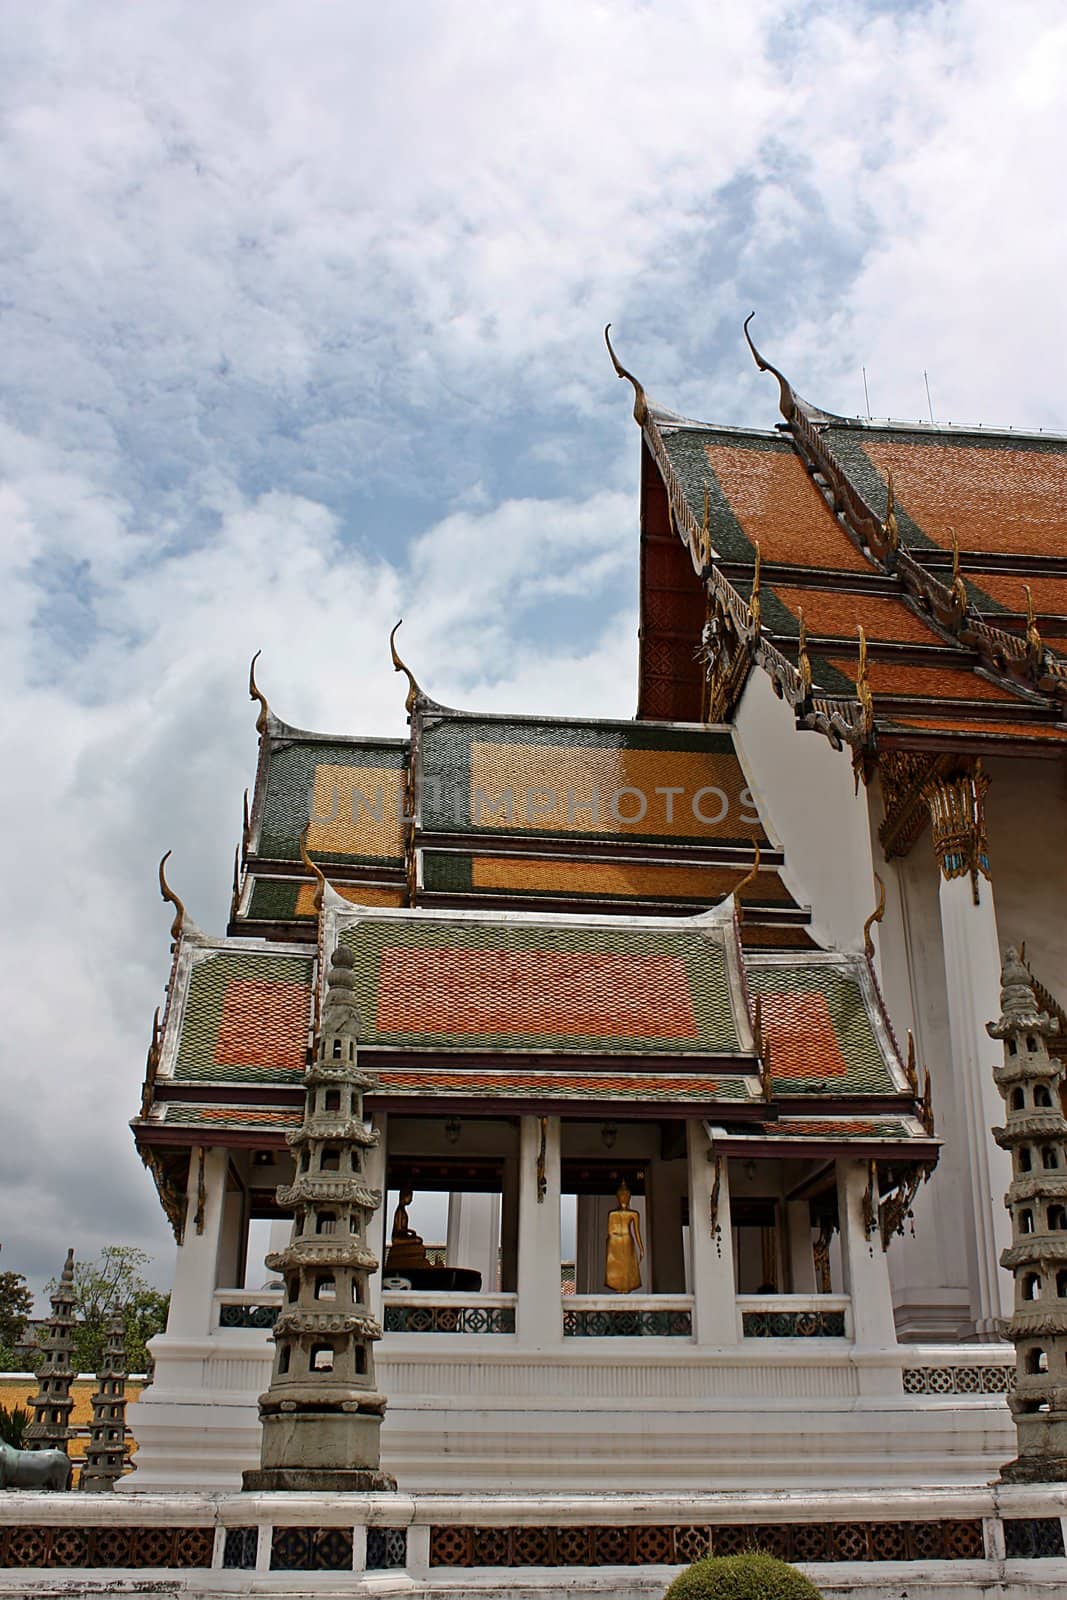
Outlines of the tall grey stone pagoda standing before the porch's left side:
{"type": "Polygon", "coordinates": [[[261,1467],[246,1490],[395,1490],[379,1470],[384,1395],[374,1387],[368,1280],[378,1259],[368,1218],[382,1197],[365,1187],[365,1152],[378,1134],[363,1125],[357,1066],[358,1010],[352,954],[336,949],[315,1061],[306,1077],[304,1122],[288,1134],[293,1182],[278,1203],[293,1208],[293,1235],[267,1266],[285,1282],[275,1323],[270,1389],[259,1397],[261,1467]]]}

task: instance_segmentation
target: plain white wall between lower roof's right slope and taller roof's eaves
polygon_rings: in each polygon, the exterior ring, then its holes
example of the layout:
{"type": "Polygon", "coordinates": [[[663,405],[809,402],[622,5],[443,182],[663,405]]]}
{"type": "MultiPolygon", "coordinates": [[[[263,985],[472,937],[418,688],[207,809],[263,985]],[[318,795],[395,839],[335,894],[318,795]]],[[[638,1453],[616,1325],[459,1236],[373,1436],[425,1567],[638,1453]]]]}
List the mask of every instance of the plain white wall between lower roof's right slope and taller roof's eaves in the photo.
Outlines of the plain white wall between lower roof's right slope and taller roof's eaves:
{"type": "Polygon", "coordinates": [[[749,677],[734,715],[741,760],[765,822],[785,850],[782,877],[811,906],[813,934],[856,949],[875,904],[867,802],[854,794],[846,750],[819,733],[798,733],[765,672],[749,677]]]}

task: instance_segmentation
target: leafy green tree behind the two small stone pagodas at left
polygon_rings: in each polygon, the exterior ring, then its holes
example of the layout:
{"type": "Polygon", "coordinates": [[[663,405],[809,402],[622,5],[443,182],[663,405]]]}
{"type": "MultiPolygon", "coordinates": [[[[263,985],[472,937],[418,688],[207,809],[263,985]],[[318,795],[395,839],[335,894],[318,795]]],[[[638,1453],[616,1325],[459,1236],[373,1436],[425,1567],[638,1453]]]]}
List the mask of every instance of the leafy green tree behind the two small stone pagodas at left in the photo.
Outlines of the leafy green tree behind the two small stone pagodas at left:
{"type": "MultiPolygon", "coordinates": [[[[99,1256],[74,1264],[74,1365],[78,1373],[99,1371],[107,1342],[107,1323],[120,1310],[125,1325],[126,1370],[149,1368],[147,1341],[166,1326],[170,1294],[154,1290],[144,1277],[149,1256],[136,1245],[104,1245],[99,1256]]],[[[51,1294],[54,1280],[48,1285],[51,1294]]]]}

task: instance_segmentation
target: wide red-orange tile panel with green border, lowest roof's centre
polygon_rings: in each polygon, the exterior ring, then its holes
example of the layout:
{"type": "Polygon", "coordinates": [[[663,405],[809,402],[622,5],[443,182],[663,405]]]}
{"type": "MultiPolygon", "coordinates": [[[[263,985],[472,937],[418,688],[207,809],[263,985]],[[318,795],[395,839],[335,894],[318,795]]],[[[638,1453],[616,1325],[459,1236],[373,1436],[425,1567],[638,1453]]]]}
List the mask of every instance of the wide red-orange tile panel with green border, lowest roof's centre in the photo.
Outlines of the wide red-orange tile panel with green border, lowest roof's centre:
{"type": "Polygon", "coordinates": [[[739,1050],[721,933],[382,917],[341,939],[357,960],[366,1043],[739,1050]]]}

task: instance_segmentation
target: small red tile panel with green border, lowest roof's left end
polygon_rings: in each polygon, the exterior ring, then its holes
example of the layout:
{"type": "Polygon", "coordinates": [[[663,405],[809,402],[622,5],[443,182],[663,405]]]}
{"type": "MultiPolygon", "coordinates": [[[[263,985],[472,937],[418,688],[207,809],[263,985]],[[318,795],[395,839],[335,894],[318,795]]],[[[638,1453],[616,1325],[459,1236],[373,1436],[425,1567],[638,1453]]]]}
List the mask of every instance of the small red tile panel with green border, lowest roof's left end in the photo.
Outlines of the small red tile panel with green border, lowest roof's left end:
{"type": "Polygon", "coordinates": [[[238,947],[202,955],[181,1011],[174,1082],[291,1083],[307,1061],[310,1000],[307,957],[238,947]]]}

